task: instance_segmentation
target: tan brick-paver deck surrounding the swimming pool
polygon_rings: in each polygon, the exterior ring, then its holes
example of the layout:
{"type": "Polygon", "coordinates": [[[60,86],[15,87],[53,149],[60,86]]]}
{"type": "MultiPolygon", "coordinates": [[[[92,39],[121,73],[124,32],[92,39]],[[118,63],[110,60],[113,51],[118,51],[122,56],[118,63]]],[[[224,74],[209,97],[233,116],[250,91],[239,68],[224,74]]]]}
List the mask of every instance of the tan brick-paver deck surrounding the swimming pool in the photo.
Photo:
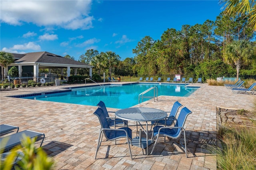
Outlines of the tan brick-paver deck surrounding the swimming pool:
{"type": "MultiPolygon", "coordinates": [[[[141,148],[131,146],[131,159],[124,139],[118,140],[115,145],[113,141],[106,141],[103,138],[103,146],[100,146],[97,159],[94,159],[100,131],[98,118],[93,115],[96,106],[6,97],[82,85],[1,91],[0,123],[18,126],[19,131],[28,129],[45,133],[46,138],[42,147],[53,157],[56,170],[215,170],[216,155],[210,154],[205,144],[216,143],[216,108],[252,110],[256,95],[235,94],[226,87],[209,86],[206,83],[191,85],[200,88],[189,97],[160,96],[156,102],[150,100],[134,106],[170,112],[173,103],[179,101],[188,107],[192,111],[185,124],[188,158],[180,148],[178,140],[160,140],[152,155],[145,155],[141,148]]],[[[118,109],[108,108],[108,111],[116,110],[118,109]]],[[[129,122],[130,124],[134,125],[134,122],[129,122]]],[[[130,128],[133,130],[132,136],[136,136],[136,128],[130,128]]],[[[149,152],[152,147],[151,144],[149,152]]]]}

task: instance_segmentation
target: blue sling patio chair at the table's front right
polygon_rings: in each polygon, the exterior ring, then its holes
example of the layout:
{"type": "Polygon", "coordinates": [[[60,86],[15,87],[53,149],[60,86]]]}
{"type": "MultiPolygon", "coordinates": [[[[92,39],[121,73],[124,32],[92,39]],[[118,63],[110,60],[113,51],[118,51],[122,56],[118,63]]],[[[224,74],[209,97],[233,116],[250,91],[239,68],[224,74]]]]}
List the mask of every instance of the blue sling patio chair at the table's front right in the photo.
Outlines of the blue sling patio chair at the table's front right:
{"type": "MultiPolygon", "coordinates": [[[[169,138],[174,138],[174,139],[180,138],[180,145],[185,150],[186,157],[188,157],[188,155],[187,155],[187,146],[186,146],[186,132],[185,132],[184,124],[185,124],[186,119],[187,119],[187,117],[190,113],[192,113],[192,111],[190,111],[188,108],[184,107],[184,108],[181,109],[179,117],[178,117],[174,127],[163,127],[163,126],[158,126],[158,125],[155,126],[153,128],[152,140],[154,141],[154,138],[156,137],[156,142],[157,142],[160,135],[167,136],[169,138]],[[182,131],[184,132],[185,146],[182,144],[182,141],[181,141],[182,131]]],[[[154,143],[151,154],[154,151],[154,148],[156,146],[156,142],[154,143]]]]}

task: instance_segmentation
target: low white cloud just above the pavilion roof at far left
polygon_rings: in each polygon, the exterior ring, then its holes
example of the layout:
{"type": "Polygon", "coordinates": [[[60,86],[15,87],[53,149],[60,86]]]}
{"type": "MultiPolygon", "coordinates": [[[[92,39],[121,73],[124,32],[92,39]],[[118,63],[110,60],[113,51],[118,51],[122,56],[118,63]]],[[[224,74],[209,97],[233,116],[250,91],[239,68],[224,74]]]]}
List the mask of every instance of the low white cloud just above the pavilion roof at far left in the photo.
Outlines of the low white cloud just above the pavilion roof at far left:
{"type": "Polygon", "coordinates": [[[9,52],[9,53],[25,53],[25,52],[18,52],[20,50],[34,50],[34,51],[40,51],[41,50],[41,47],[40,45],[34,43],[34,42],[28,42],[28,43],[24,43],[24,44],[16,44],[16,45],[13,45],[13,47],[10,47],[10,48],[6,48],[4,47],[2,49],[2,51],[5,51],[5,52],[9,52]]]}

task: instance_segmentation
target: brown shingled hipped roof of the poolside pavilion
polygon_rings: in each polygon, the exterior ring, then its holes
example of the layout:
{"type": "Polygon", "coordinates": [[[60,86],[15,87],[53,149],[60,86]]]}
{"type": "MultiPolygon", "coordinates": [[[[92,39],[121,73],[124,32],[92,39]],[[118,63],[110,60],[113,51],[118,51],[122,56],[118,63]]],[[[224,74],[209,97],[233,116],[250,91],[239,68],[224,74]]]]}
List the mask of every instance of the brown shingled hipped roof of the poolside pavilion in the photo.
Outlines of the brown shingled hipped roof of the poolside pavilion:
{"type": "Polygon", "coordinates": [[[71,65],[74,67],[93,67],[92,65],[82,63],[80,61],[75,61],[73,59],[65,58],[60,55],[56,55],[53,53],[49,53],[47,51],[42,52],[32,52],[32,53],[24,53],[24,54],[16,54],[12,53],[15,59],[16,64],[26,64],[26,63],[38,63],[40,65],[71,65]]]}

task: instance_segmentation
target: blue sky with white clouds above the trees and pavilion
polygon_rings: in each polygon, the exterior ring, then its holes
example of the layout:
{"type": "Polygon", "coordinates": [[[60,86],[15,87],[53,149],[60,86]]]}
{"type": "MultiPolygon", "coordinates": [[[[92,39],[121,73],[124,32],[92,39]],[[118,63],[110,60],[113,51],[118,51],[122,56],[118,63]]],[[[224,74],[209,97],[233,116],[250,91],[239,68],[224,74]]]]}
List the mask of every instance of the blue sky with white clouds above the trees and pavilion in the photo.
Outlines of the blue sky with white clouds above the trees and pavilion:
{"type": "Polygon", "coordinates": [[[78,60],[96,49],[125,59],[145,36],[160,40],[168,28],[215,21],[220,8],[218,0],[1,0],[0,50],[78,60]]]}

